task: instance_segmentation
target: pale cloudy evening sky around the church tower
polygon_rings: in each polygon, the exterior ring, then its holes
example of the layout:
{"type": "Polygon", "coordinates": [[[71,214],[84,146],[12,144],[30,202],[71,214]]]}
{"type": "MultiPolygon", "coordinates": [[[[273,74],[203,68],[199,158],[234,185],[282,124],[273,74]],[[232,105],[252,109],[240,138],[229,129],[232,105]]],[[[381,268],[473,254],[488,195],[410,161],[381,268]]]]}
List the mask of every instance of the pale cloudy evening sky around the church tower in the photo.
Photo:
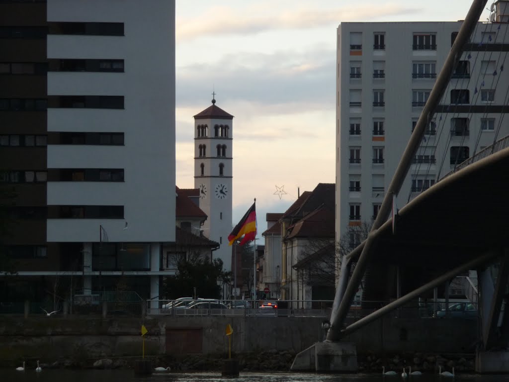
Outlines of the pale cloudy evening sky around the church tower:
{"type": "MultiPolygon", "coordinates": [[[[489,2],[491,4],[491,2],[489,2]]],[[[177,0],[177,185],[194,187],[193,115],[233,120],[233,226],[334,183],[336,28],[343,21],[457,21],[471,1],[177,0]],[[281,199],[276,185],[284,186],[281,199]]],[[[483,19],[488,17],[485,11],[483,19]]],[[[262,242],[257,242],[262,244],[262,242]]]]}

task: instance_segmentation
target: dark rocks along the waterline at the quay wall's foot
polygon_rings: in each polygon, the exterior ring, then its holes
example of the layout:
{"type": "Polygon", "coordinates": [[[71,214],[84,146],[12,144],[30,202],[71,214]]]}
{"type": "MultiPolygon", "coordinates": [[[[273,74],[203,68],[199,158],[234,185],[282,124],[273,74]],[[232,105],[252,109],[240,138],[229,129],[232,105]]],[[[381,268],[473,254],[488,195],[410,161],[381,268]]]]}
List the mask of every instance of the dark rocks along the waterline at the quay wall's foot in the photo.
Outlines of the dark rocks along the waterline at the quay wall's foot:
{"type": "MultiPolygon", "coordinates": [[[[474,371],[473,354],[392,354],[391,356],[380,356],[377,354],[360,354],[358,356],[359,372],[381,373],[382,367],[385,370],[400,371],[405,367],[407,372],[411,366],[412,371],[422,373],[436,373],[439,366],[442,370],[455,368],[457,373],[471,373],[474,371]]],[[[224,356],[205,356],[194,354],[188,356],[157,356],[147,357],[151,359],[153,367],[170,367],[172,372],[191,371],[220,371],[221,362],[224,356]]],[[[289,351],[260,351],[247,354],[232,354],[232,358],[239,359],[241,371],[288,371],[295,358],[295,353],[289,351]]],[[[64,359],[53,362],[42,362],[43,369],[68,368],[68,369],[131,369],[139,357],[119,357],[103,359],[64,359]]],[[[36,360],[25,360],[27,363],[36,364],[36,360]]],[[[19,362],[20,364],[22,363],[19,362]]],[[[2,365],[14,366],[14,365],[2,365]]]]}

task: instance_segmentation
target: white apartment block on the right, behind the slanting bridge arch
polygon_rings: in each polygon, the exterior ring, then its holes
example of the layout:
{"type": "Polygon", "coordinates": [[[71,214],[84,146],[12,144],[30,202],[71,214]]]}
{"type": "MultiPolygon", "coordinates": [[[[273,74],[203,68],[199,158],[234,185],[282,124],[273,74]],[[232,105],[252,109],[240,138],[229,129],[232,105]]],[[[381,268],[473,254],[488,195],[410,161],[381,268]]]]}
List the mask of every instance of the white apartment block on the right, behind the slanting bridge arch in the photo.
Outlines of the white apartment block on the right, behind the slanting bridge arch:
{"type": "MultiPolygon", "coordinates": [[[[497,2],[504,3],[504,2],[497,2]]],[[[491,16],[501,20],[503,15],[491,16]]],[[[337,28],[336,241],[378,213],[461,22],[345,22],[337,28]]],[[[402,207],[508,133],[507,24],[478,23],[397,196],[402,207]]],[[[360,243],[350,234],[352,248],[360,243]]]]}

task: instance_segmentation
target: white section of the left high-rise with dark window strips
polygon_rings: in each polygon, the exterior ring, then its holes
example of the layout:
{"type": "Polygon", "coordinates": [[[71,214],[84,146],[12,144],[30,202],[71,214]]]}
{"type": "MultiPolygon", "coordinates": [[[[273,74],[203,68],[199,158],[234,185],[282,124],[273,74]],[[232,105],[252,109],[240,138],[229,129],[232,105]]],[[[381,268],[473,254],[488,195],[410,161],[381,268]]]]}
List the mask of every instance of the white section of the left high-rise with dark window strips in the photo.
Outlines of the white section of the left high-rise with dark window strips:
{"type": "Polygon", "coordinates": [[[80,245],[84,294],[157,297],[175,241],[175,2],[149,3],[47,2],[47,241],[80,245]]]}

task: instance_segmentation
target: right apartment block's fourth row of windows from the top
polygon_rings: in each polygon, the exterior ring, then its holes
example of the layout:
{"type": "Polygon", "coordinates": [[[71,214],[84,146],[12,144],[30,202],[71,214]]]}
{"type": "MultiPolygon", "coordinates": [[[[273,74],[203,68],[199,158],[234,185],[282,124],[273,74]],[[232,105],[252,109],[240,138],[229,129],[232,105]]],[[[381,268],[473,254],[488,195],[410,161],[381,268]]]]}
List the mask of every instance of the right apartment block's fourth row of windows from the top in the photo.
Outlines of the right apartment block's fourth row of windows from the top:
{"type": "MultiPolygon", "coordinates": [[[[417,120],[412,120],[412,132],[417,125],[417,120]]],[[[482,131],[495,130],[495,118],[481,118],[480,129],[482,131]]],[[[361,135],[361,119],[350,118],[350,135],[361,135]]],[[[378,118],[373,120],[373,135],[380,136],[385,134],[384,119],[378,118]]],[[[428,124],[425,135],[436,135],[437,124],[432,121],[428,124]]],[[[468,118],[451,118],[450,119],[450,134],[455,136],[468,136],[470,134],[469,119],[468,118]]]]}

